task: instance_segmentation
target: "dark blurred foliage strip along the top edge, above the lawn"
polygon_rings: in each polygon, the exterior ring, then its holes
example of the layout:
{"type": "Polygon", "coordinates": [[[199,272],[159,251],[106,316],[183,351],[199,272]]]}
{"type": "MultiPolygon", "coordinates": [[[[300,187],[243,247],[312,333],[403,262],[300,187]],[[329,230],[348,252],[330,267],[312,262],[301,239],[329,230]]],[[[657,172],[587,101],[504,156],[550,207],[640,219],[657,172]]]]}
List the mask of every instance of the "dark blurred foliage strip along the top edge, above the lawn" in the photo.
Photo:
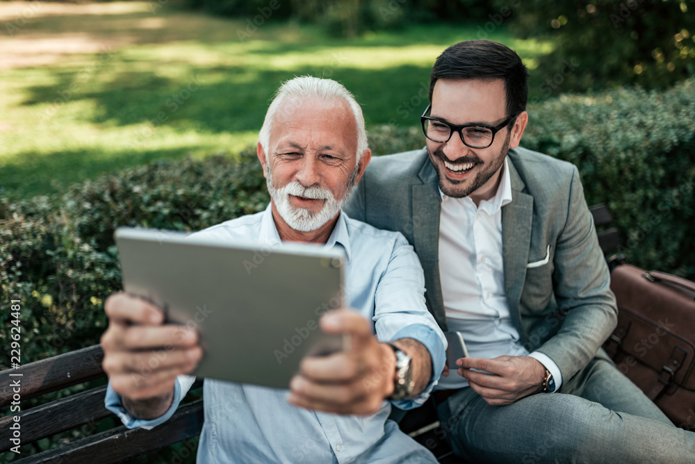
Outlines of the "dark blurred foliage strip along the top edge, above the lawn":
{"type": "Polygon", "coordinates": [[[270,19],[320,24],[331,35],[352,37],[432,21],[482,20],[484,0],[185,0],[189,8],[213,15],[247,17],[256,26],[270,19]]]}

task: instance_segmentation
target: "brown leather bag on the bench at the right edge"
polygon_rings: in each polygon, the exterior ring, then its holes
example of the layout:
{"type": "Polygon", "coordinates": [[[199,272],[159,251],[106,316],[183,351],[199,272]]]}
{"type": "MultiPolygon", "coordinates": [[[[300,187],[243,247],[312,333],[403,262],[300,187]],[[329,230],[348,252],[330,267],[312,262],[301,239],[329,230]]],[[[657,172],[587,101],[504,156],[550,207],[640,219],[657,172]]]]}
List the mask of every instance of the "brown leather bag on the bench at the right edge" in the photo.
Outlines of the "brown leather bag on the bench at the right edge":
{"type": "Polygon", "coordinates": [[[611,272],[618,325],[603,344],[676,426],[695,429],[695,283],[618,265],[611,272]]]}

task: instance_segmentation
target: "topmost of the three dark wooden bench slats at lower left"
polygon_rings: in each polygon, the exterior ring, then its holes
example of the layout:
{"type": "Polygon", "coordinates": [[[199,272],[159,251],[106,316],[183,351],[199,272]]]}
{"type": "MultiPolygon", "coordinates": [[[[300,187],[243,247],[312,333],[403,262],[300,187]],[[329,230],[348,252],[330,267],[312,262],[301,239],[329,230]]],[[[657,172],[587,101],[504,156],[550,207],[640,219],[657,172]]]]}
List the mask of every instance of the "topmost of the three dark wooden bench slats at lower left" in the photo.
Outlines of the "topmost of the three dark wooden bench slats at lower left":
{"type": "MultiPolygon", "coordinates": [[[[20,394],[24,400],[99,378],[104,375],[104,371],[101,370],[102,359],[104,359],[104,351],[101,351],[99,345],[92,345],[28,363],[19,369],[3,370],[0,372],[0,379],[19,379],[20,394]],[[10,374],[22,374],[22,376],[10,377],[10,374]]],[[[3,381],[0,384],[0,407],[12,401],[14,392],[11,383],[11,381],[3,381]]]]}

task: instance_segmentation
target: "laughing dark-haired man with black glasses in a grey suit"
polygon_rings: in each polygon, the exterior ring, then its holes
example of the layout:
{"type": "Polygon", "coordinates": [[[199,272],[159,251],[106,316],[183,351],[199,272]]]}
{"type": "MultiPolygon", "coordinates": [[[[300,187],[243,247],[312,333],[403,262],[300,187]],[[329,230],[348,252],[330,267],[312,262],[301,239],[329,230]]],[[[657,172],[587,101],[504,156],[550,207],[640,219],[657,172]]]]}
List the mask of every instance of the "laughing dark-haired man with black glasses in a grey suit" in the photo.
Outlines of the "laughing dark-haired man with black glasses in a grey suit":
{"type": "Polygon", "coordinates": [[[600,349],[610,274],[576,167],[519,147],[527,98],[512,49],[452,45],[432,69],[426,147],[375,158],[345,207],[406,236],[430,312],[466,342],[433,395],[437,432],[473,462],[695,462],[695,434],[600,349]]]}

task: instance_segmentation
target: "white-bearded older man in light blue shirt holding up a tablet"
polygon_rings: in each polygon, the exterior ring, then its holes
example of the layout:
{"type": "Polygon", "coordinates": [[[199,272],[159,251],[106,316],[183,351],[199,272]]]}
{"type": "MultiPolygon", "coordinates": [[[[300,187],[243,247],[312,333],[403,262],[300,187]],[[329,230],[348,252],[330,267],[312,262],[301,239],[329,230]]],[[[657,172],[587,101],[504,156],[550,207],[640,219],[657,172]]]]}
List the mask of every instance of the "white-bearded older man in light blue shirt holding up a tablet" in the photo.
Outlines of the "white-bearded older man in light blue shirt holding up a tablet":
{"type": "MultiPolygon", "coordinates": [[[[425,306],[422,268],[400,233],[341,213],[371,157],[361,108],[335,81],[294,78],[270,104],[257,152],[268,208],[197,234],[220,243],[342,247],[346,299],[357,311],[327,313],[320,326],[349,335],[351,347],[304,358],[289,392],[206,379],[197,462],[436,462],[387,420],[391,403],[384,401],[422,404],[443,368],[445,340],[425,306]]],[[[105,310],[106,406],[131,428],[161,424],[193,383],[183,374],[202,356],[197,334],[163,324],[158,308],[123,293],[111,295],[105,310]],[[167,345],[175,349],[149,366],[167,345]]]]}

